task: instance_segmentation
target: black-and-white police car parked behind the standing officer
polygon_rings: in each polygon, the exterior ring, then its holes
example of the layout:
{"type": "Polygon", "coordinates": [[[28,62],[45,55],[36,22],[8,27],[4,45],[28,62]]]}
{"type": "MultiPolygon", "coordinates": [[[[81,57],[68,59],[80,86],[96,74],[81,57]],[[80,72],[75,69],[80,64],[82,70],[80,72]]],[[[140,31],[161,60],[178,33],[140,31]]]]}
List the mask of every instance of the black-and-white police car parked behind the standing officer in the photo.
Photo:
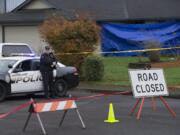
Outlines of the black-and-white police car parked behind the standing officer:
{"type": "MultiPolygon", "coordinates": [[[[75,67],[68,67],[58,62],[53,75],[53,88],[58,96],[65,95],[67,90],[79,84],[75,67]]],[[[12,94],[42,91],[40,57],[0,58],[0,101],[12,94]]]]}

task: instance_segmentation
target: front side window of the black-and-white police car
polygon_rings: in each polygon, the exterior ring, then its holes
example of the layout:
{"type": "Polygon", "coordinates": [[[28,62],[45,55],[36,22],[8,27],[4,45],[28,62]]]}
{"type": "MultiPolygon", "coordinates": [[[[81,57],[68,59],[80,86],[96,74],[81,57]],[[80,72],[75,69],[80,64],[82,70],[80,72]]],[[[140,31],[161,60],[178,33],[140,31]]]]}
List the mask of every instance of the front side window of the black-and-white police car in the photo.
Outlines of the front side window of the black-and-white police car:
{"type": "Polygon", "coordinates": [[[17,67],[14,69],[14,72],[24,72],[30,70],[31,70],[31,60],[26,60],[19,63],[17,67]]]}

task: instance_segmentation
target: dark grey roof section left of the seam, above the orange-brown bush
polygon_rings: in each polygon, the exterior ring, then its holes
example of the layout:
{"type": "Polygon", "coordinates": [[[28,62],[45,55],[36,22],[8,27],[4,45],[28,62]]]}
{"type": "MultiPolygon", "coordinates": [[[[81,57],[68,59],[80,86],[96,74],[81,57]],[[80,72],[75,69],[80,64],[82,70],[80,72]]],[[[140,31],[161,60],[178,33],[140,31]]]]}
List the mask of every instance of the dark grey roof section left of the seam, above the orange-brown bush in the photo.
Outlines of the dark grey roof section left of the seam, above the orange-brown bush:
{"type": "MultiPolygon", "coordinates": [[[[13,10],[13,12],[21,11],[23,7],[27,6],[34,0],[26,0],[21,5],[13,10]]],[[[126,7],[124,0],[45,0],[51,4],[54,9],[61,10],[65,17],[73,19],[77,14],[88,14],[95,20],[113,20],[116,18],[126,18],[126,7]],[[112,6],[109,6],[113,3],[112,6]]]]}

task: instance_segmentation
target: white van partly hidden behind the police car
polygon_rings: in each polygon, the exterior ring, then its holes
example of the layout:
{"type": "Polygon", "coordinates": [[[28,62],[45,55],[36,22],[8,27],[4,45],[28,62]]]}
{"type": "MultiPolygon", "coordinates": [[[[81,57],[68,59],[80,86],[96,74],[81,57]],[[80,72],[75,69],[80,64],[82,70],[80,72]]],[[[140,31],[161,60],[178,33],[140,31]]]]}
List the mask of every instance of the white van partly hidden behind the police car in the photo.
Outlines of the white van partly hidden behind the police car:
{"type": "Polygon", "coordinates": [[[25,43],[0,43],[0,58],[12,56],[35,56],[32,48],[25,43]]]}

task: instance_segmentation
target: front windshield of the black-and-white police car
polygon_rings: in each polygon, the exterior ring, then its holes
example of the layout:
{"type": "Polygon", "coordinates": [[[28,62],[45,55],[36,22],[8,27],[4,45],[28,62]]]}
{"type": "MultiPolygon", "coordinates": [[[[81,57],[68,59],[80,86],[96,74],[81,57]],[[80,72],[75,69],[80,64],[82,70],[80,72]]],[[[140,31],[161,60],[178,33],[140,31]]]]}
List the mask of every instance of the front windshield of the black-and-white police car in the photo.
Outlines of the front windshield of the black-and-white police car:
{"type": "Polygon", "coordinates": [[[14,65],[17,60],[0,60],[0,72],[8,72],[8,65],[14,65]]]}

